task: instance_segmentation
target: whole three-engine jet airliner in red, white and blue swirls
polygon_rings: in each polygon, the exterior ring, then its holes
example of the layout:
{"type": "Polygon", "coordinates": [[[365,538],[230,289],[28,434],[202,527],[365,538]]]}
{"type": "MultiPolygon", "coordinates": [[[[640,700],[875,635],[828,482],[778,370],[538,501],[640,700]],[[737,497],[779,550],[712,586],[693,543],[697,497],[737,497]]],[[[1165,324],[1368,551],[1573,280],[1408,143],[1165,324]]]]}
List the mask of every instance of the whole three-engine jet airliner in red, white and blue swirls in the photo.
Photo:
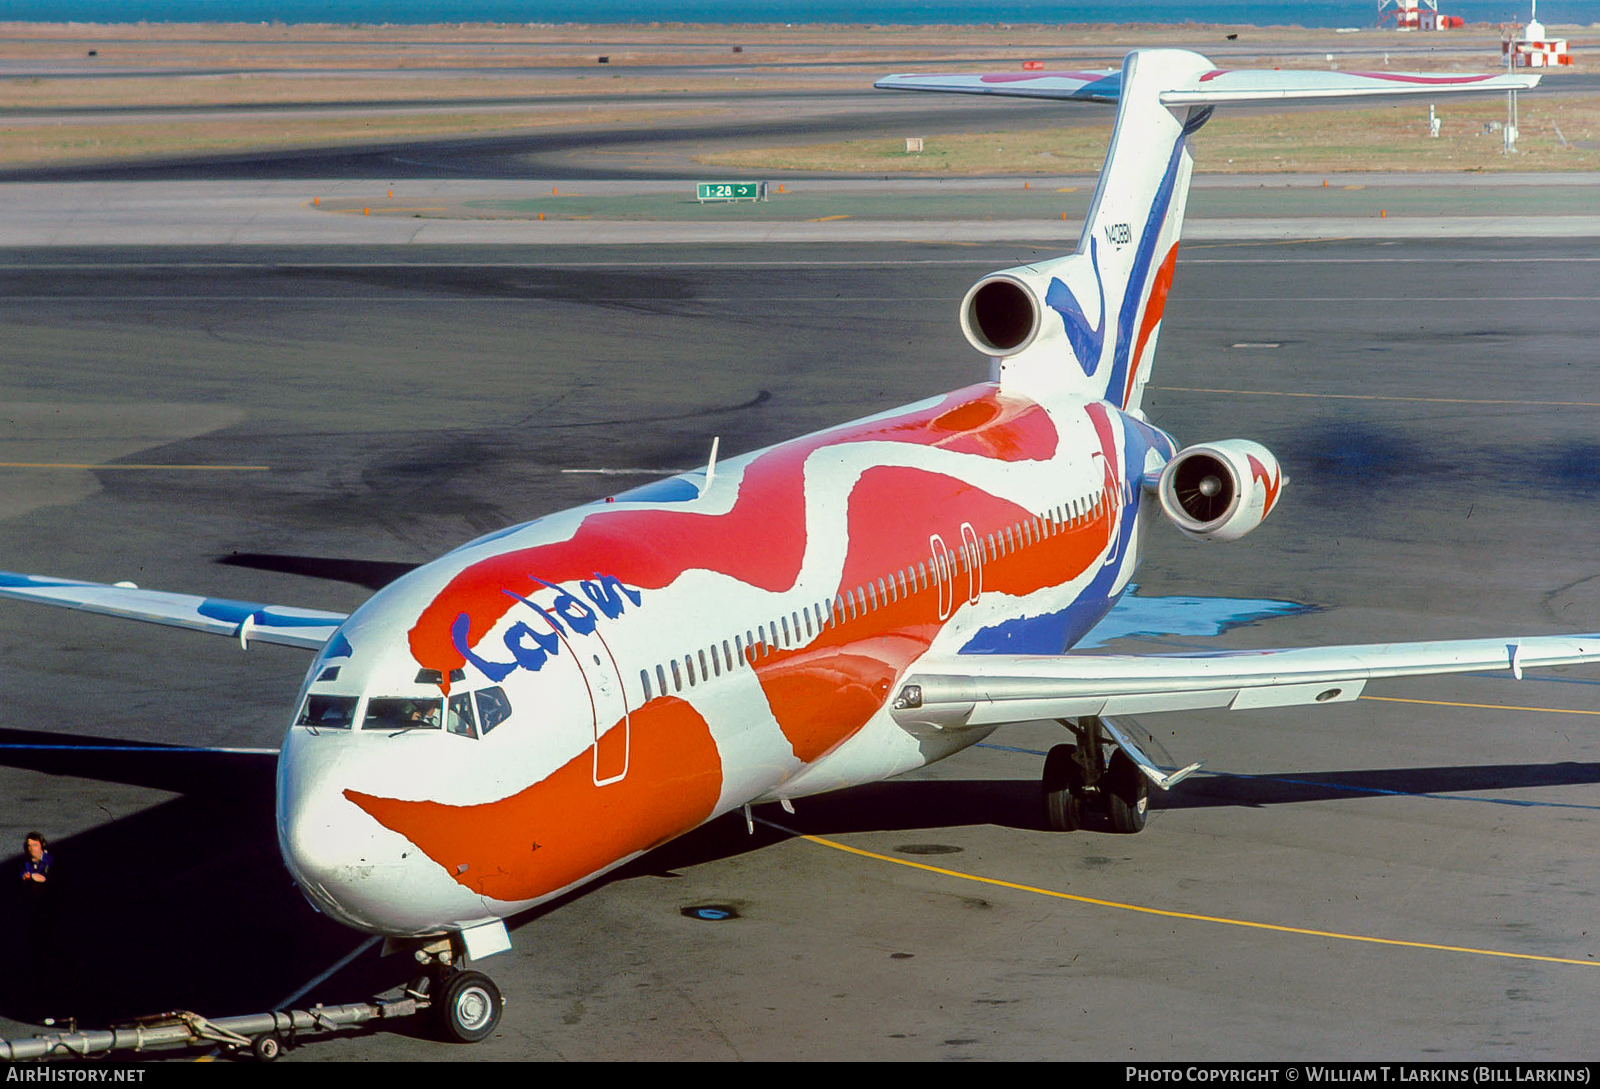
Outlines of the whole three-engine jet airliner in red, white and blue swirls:
{"type": "Polygon", "coordinates": [[[1189,138],[1218,106],[1528,88],[1525,75],[1120,70],[878,86],[1109,102],[1077,249],[962,301],[989,381],[461,545],[350,616],[5,574],[0,593],[314,654],[278,758],[283,859],[322,911],[435,956],[458,1039],[499,995],[462,971],[504,919],[730,811],[874,782],[1008,723],[1072,734],[1053,827],[1144,825],[1162,766],[1118,721],[1342,704],[1373,680],[1600,660],[1600,635],[1066,654],[1166,518],[1230,541],[1277,459],[1179,445],[1141,411],[1178,259],[1189,138]]]}

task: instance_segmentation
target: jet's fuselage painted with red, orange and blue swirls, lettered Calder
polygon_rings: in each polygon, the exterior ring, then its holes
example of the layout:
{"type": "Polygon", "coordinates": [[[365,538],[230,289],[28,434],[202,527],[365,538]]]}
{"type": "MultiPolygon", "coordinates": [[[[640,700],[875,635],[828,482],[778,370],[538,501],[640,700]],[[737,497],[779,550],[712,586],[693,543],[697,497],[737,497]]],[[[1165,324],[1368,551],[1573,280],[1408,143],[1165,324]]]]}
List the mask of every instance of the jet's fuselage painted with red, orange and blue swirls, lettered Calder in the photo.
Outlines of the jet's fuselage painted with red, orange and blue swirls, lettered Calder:
{"type": "Polygon", "coordinates": [[[987,731],[896,724],[896,681],[1070,646],[1126,587],[1173,451],[1106,401],[982,384],[462,545],[307,673],[283,856],[330,915],[435,934],[947,756],[987,731]]]}

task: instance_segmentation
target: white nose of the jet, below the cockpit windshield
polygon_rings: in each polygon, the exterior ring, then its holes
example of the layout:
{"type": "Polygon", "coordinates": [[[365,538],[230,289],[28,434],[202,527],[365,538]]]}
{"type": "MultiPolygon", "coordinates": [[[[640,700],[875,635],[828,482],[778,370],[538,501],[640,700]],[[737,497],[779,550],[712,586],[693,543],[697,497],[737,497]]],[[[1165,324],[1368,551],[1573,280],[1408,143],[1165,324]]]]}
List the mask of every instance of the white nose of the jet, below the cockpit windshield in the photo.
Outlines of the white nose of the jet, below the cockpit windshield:
{"type": "Polygon", "coordinates": [[[365,764],[352,748],[381,739],[290,729],[278,755],[278,849],[318,911],[370,934],[440,934],[482,918],[467,896],[411,843],[344,796],[365,764]],[[354,742],[354,744],[352,744],[354,742]]]}

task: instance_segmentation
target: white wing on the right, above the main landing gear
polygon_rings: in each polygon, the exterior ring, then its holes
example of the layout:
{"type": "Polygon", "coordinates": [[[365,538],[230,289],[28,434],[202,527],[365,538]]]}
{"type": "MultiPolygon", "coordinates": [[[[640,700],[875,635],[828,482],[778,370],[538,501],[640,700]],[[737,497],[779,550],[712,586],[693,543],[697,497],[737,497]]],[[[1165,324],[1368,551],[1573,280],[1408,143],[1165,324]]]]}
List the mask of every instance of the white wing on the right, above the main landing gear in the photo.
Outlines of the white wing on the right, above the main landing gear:
{"type": "Polygon", "coordinates": [[[1600,635],[1373,643],[1213,654],[960,654],[923,659],[891,704],[904,726],[1342,704],[1389,676],[1600,662],[1600,635]]]}

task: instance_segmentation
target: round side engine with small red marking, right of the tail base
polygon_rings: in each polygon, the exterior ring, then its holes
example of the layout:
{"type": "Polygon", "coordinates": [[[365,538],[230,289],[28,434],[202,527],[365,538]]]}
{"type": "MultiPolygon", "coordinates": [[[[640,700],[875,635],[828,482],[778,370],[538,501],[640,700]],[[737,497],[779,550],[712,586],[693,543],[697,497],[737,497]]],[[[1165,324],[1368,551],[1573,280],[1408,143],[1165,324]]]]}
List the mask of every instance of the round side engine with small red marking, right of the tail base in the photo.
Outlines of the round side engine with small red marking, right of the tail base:
{"type": "Polygon", "coordinates": [[[1238,541],[1262,523],[1286,485],[1278,459],[1248,438],[1178,451],[1162,470],[1162,510],[1197,541],[1238,541]]]}

